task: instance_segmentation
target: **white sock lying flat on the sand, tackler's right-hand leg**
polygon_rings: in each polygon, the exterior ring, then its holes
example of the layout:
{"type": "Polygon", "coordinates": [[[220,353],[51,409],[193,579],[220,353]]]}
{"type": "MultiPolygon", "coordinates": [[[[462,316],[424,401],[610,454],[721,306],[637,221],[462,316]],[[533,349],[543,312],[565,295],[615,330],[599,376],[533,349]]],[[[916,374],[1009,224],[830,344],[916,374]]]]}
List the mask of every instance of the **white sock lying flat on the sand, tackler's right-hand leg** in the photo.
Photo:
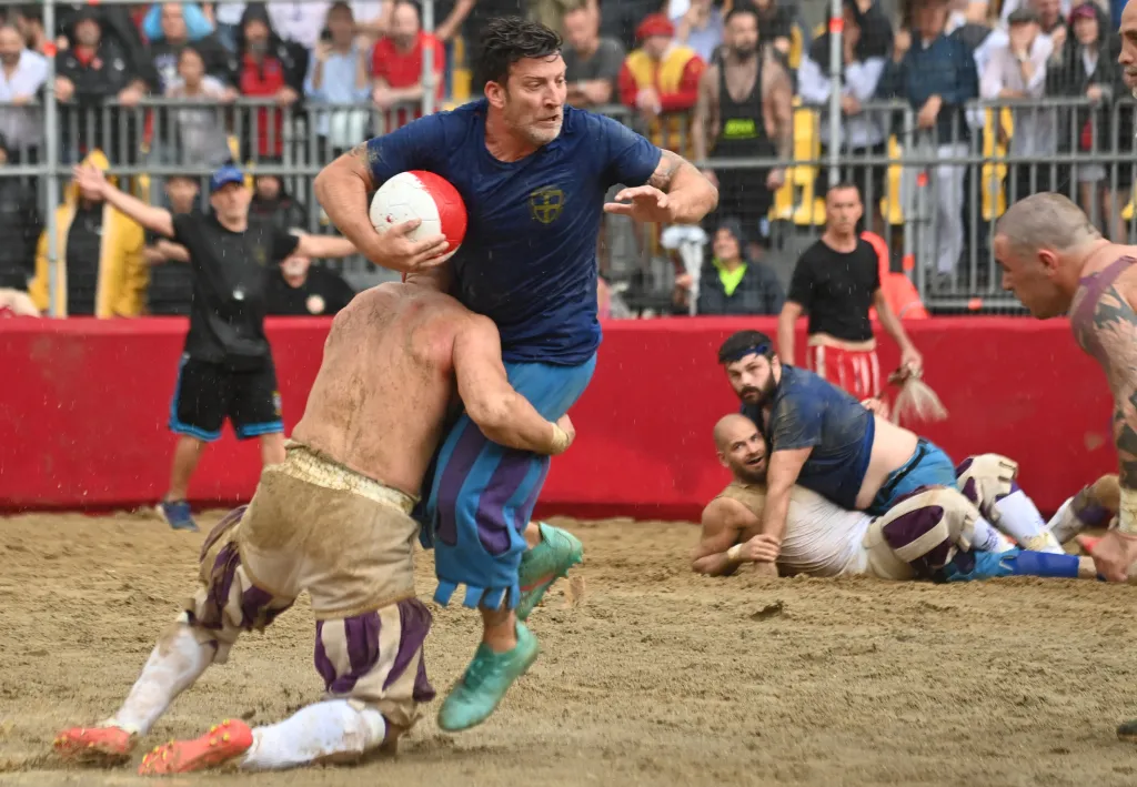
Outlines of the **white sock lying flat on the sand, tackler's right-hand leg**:
{"type": "Polygon", "coordinates": [[[252,746],[241,768],[280,770],[334,755],[360,755],[385,737],[387,720],[376,709],[329,699],[301,707],[280,723],[254,729],[252,746]]]}

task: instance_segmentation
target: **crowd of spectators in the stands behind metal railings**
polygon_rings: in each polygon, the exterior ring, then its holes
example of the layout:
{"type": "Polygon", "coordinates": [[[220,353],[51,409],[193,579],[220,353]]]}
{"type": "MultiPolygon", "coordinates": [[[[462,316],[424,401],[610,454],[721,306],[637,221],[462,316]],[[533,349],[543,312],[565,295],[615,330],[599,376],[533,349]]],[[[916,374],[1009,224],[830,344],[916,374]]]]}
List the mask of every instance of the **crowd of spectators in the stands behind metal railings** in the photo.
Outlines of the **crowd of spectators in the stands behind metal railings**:
{"type": "MultiPolygon", "coordinates": [[[[1120,114],[1120,133],[1112,126],[1118,99],[1127,96],[1112,32],[1119,8],[1110,0],[906,0],[894,24],[879,1],[845,0],[840,53],[841,179],[861,189],[870,226],[887,237],[879,209],[887,189],[882,158],[897,131],[896,113],[871,109],[874,101],[911,107],[918,132],[904,142],[933,163],[935,254],[926,262],[951,275],[968,235],[968,179],[978,173],[952,159],[965,156],[972,138],[990,126],[970,102],[1081,97],[1087,101],[1073,109],[1020,105],[1009,113],[1010,123],[996,121],[997,142],[1012,157],[1029,159],[1006,167],[1006,194],[1068,191],[1102,217],[1107,235],[1128,234],[1121,208],[1132,171],[1122,159],[1132,148],[1131,109],[1120,114]],[[1077,167],[1051,161],[1092,148],[1119,158],[1077,167]],[[858,164],[866,157],[877,161],[858,164]]],[[[323,163],[418,115],[428,51],[434,106],[468,96],[470,85],[479,84],[467,68],[476,32],[487,18],[505,14],[532,16],[563,35],[573,105],[622,105],[654,141],[698,160],[764,159],[706,171],[719,183],[721,204],[703,227],[698,310],[777,313],[781,287],[762,258],[770,206],[787,182],[786,168],[772,163],[799,156],[800,109],[794,105],[820,113],[820,127],[828,127],[833,84],[830,33],[811,30],[792,0],[439,0],[433,33],[423,31],[413,0],[70,3],[57,7],[55,31],[43,30],[40,5],[8,7],[0,24],[0,166],[43,158],[39,99],[45,58],[53,57],[64,161],[96,155],[111,167],[184,168],[185,175],[165,177],[156,193],[167,207],[197,210],[198,177],[229,160],[279,164],[290,160],[289,140],[301,139],[323,163]]],[[[824,157],[827,138],[819,136],[824,157]]],[[[811,192],[822,197],[827,179],[819,167],[811,192]]],[[[252,214],[310,230],[316,218],[309,206],[285,187],[281,177],[257,177],[252,214]]],[[[0,289],[26,289],[44,309],[45,290],[35,274],[42,194],[11,177],[0,177],[0,289]],[[30,289],[22,284],[27,276],[30,289]]],[[[108,279],[100,260],[113,256],[103,232],[109,219],[82,194],[67,197],[58,214],[58,248],[68,255],[63,289],[69,314],[184,313],[177,297],[185,290],[184,271],[166,241],[143,239],[136,254],[122,251],[126,258],[116,262],[124,272],[116,274],[117,287],[142,291],[118,298],[100,290],[108,279]]],[[[652,248],[665,254],[658,243],[652,248]]],[[[692,289],[691,274],[678,256],[674,262],[675,308],[684,310],[682,290],[692,289]]],[[[291,265],[291,274],[281,274],[299,292],[282,290],[289,313],[302,310],[298,303],[323,305],[309,313],[333,313],[339,297],[304,295],[324,268],[309,260],[291,265]]]]}

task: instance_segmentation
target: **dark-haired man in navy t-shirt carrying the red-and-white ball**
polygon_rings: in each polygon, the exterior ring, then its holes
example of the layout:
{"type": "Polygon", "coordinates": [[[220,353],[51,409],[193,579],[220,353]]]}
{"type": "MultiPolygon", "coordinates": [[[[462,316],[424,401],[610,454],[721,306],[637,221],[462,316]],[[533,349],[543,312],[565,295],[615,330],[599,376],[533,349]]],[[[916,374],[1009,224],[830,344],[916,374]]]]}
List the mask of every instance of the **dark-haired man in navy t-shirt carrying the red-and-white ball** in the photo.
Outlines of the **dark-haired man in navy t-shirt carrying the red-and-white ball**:
{"type": "MultiPolygon", "coordinates": [[[[456,297],[497,323],[509,381],[546,419],[588,387],[600,343],[597,239],[603,213],[656,224],[695,224],[717,204],[714,187],[682,157],[661,151],[607,117],[565,106],[561,39],[516,17],[482,32],[475,68],[484,98],[373,139],[316,180],[337,227],[375,264],[415,271],[439,264],[442,235],[412,241],[417,221],[379,233],[368,194],[400,172],[426,169],[455,185],[468,213],[451,258],[456,297]],[[604,196],[626,187],[616,202],[604,196]]],[[[484,721],[537,658],[524,619],[545,589],[580,561],[567,533],[529,522],[549,459],[488,441],[460,416],[437,456],[424,515],[435,550],[434,595],[459,585],[484,632],[473,662],[439,712],[445,730],[484,721]]],[[[426,488],[426,484],[424,484],[426,488]]]]}

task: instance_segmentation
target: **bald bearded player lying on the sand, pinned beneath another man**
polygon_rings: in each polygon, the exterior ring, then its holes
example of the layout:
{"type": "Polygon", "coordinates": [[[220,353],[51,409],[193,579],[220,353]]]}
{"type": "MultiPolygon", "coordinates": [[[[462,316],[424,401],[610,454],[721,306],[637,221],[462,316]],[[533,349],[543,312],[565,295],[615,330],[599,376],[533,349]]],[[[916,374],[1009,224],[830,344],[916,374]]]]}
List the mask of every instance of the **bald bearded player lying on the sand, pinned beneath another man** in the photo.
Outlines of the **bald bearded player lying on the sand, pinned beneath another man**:
{"type": "MultiPolygon", "coordinates": [[[[703,512],[703,535],[691,568],[724,575],[742,563],[769,561],[769,553],[761,548],[769,541],[761,535],[766,447],[757,428],[742,415],[720,420],[714,437],[719,458],[735,480],[703,512]]],[[[1095,578],[1097,572],[1088,557],[1020,552],[1010,545],[998,552],[972,548],[980,507],[1001,523],[1016,519],[1041,522],[1034,503],[1013,481],[1015,469],[1013,462],[994,454],[969,457],[960,469],[958,490],[915,490],[879,517],[841,508],[804,487],[794,487],[777,557],[778,573],[949,581],[1012,574],[1095,578]]],[[[1107,506],[1117,499],[1115,494],[1111,498],[1110,488],[1106,477],[1081,490],[1067,502],[1051,527],[1069,539],[1084,527],[1107,519],[1107,506]]]]}

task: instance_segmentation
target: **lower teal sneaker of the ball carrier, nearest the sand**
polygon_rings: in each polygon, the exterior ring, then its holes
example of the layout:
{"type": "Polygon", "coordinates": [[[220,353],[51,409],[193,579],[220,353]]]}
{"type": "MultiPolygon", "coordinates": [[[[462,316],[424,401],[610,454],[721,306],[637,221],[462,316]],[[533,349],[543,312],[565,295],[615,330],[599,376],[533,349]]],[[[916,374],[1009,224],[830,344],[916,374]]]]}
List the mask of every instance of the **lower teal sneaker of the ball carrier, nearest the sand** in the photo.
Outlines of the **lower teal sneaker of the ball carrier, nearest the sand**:
{"type": "Polygon", "coordinates": [[[438,712],[438,726],[447,732],[476,727],[497,709],[513,681],[529,671],[541,648],[529,629],[517,623],[517,646],[493,653],[484,643],[462,680],[455,684],[438,712]]]}

